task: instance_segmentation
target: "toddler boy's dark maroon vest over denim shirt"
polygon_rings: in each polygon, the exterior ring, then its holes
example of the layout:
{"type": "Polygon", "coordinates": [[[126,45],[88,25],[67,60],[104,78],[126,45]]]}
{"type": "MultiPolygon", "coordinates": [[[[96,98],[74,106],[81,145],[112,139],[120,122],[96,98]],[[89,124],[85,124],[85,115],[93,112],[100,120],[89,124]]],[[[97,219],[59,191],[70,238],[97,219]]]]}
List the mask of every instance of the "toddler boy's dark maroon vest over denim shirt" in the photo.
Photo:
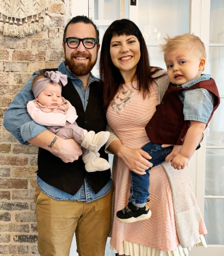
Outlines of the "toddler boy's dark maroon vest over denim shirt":
{"type": "Polygon", "coordinates": [[[214,95],[214,107],[208,122],[211,120],[215,109],[220,104],[220,96],[214,79],[210,78],[198,82],[190,88],[176,87],[170,83],[161,103],[156,106],[154,115],[146,125],[146,133],[151,142],[172,145],[183,144],[190,121],[184,120],[183,103],[178,95],[182,90],[196,88],[207,89],[214,95]]]}

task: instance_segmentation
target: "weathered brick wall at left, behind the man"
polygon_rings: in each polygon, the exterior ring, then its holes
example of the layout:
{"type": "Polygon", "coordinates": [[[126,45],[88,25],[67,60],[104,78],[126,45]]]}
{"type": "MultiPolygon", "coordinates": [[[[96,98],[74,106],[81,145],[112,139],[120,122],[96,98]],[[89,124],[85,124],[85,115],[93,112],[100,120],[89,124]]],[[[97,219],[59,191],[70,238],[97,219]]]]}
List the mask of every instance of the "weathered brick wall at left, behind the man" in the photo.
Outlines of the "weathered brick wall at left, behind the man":
{"type": "Polygon", "coordinates": [[[70,0],[48,0],[50,29],[23,39],[0,33],[0,255],[34,256],[38,148],[21,145],[2,125],[4,111],[33,71],[54,68],[64,59],[62,37],[70,0]]]}

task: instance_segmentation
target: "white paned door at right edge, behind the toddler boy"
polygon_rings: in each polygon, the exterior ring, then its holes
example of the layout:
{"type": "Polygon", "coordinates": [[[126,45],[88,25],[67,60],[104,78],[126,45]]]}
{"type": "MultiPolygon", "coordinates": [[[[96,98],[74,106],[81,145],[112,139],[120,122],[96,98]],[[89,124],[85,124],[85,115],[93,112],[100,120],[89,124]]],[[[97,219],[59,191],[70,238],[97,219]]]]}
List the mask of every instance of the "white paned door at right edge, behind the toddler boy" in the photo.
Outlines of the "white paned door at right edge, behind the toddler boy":
{"type": "Polygon", "coordinates": [[[224,0],[203,0],[200,2],[199,8],[201,9],[199,35],[203,38],[202,40],[206,43],[207,48],[205,71],[215,79],[219,88],[221,103],[207,128],[202,148],[198,150],[195,161],[196,197],[201,209],[204,209],[204,220],[208,230],[206,237],[208,248],[198,247],[192,251],[190,256],[223,256],[224,0]]]}

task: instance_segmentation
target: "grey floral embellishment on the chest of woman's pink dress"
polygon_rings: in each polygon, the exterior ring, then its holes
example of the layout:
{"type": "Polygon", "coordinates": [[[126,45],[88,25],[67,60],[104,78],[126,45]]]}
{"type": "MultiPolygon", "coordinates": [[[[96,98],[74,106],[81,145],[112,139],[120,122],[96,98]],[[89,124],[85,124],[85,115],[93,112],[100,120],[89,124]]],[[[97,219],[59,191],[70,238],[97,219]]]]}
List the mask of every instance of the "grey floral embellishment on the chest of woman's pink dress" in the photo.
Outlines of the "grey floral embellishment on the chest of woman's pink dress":
{"type": "Polygon", "coordinates": [[[134,95],[134,91],[132,89],[120,88],[111,103],[113,110],[116,110],[118,114],[121,114],[124,108],[127,106],[127,104],[129,104],[129,102],[131,101],[131,97],[133,95],[134,95]]]}

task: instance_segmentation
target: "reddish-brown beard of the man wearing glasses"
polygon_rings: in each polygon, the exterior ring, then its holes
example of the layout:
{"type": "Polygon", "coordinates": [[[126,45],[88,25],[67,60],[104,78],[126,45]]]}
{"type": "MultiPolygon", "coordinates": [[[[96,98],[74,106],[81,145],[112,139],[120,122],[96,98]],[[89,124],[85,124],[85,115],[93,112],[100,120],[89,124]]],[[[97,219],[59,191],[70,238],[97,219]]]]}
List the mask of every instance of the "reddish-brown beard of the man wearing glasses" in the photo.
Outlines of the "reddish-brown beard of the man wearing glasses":
{"type": "Polygon", "coordinates": [[[70,72],[74,74],[75,76],[85,76],[90,73],[90,71],[93,69],[94,65],[96,64],[97,59],[94,62],[91,62],[92,58],[91,55],[84,56],[80,54],[72,54],[71,58],[68,58],[65,54],[65,64],[68,66],[70,72]],[[76,64],[74,62],[74,56],[79,56],[79,57],[88,57],[89,62],[88,64],[76,64]]]}

